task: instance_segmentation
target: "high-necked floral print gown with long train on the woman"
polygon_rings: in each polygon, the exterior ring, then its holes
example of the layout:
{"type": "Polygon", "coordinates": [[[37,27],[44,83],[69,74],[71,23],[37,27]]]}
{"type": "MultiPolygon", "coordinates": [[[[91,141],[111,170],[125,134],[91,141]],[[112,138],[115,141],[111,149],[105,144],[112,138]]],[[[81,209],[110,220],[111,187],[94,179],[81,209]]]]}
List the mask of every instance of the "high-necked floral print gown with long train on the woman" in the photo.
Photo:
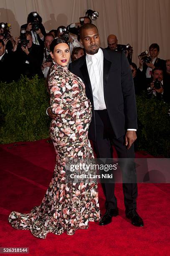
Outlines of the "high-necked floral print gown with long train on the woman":
{"type": "Polygon", "coordinates": [[[54,64],[49,77],[51,110],[57,118],[51,121],[50,136],[56,151],[53,178],[40,206],[30,213],[11,212],[8,218],[16,229],[29,229],[38,238],[47,233],[60,235],[66,230],[88,228],[89,221],[99,221],[100,211],[96,182],[64,181],[68,159],[91,159],[93,151],[88,140],[91,103],[82,80],[67,67],[54,64]]]}

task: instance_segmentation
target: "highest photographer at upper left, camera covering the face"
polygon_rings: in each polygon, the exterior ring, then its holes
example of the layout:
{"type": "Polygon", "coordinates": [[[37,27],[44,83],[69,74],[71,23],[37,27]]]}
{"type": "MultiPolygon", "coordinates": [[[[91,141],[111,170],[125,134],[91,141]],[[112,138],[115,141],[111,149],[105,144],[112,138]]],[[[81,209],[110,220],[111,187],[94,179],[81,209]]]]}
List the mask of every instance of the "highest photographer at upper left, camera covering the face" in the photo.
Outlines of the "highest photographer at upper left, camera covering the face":
{"type": "Polygon", "coordinates": [[[32,12],[28,15],[27,24],[24,24],[20,29],[25,29],[25,31],[30,31],[33,38],[33,43],[41,45],[44,47],[44,36],[46,35],[46,30],[42,24],[42,18],[37,12],[32,12]]]}

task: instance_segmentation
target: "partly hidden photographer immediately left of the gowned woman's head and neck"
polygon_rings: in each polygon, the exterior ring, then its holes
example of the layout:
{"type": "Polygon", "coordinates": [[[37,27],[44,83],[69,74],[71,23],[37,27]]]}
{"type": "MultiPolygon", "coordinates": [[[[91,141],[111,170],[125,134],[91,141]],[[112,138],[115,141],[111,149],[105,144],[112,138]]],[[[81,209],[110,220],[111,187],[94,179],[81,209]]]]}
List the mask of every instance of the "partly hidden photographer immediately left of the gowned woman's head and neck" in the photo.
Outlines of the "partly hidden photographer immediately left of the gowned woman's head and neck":
{"type": "Polygon", "coordinates": [[[54,36],[52,33],[46,34],[44,37],[44,59],[43,59],[43,64],[41,66],[41,70],[43,71],[43,75],[46,78],[48,74],[48,70],[52,64],[52,58],[50,55],[50,44],[54,40],[54,36]]]}

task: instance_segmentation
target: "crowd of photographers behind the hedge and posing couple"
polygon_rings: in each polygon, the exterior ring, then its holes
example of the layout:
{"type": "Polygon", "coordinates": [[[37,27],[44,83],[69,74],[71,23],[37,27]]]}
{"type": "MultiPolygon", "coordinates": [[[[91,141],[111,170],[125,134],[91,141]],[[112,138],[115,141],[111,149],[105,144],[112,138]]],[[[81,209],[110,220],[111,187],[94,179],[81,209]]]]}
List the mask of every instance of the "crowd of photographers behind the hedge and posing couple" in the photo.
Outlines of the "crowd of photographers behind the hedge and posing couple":
{"type": "MultiPolygon", "coordinates": [[[[42,24],[41,16],[36,13],[38,27],[34,28],[35,12],[28,15],[27,23],[20,27],[25,30],[26,43],[23,45],[21,36],[15,37],[15,40],[8,31],[8,38],[4,37],[4,29],[0,28],[0,81],[11,82],[18,80],[21,74],[31,78],[35,74],[39,77],[47,77],[49,68],[52,64],[50,56],[50,44],[54,38],[64,38],[69,43],[71,61],[75,61],[85,54],[84,48],[79,40],[79,29],[82,24],[72,23],[69,26],[59,26],[48,33],[42,24]],[[33,27],[34,26],[34,27],[33,27]],[[10,74],[9,74],[9,67],[10,74]]],[[[89,16],[84,17],[83,24],[91,23],[89,16]]],[[[118,44],[116,35],[109,35],[107,38],[108,46],[106,49],[111,51],[122,51],[122,45],[118,44]]],[[[128,51],[125,52],[128,55],[128,51]]],[[[142,91],[147,92],[149,97],[152,95],[165,102],[170,102],[170,60],[166,61],[158,57],[160,47],[158,44],[151,44],[149,47],[149,61],[139,58],[139,68],[137,64],[129,60],[134,79],[135,94],[142,91]],[[158,73],[161,73],[158,74],[158,73]],[[156,75],[157,74],[157,75],[156,75]],[[157,87],[154,87],[154,82],[157,87]]]]}

